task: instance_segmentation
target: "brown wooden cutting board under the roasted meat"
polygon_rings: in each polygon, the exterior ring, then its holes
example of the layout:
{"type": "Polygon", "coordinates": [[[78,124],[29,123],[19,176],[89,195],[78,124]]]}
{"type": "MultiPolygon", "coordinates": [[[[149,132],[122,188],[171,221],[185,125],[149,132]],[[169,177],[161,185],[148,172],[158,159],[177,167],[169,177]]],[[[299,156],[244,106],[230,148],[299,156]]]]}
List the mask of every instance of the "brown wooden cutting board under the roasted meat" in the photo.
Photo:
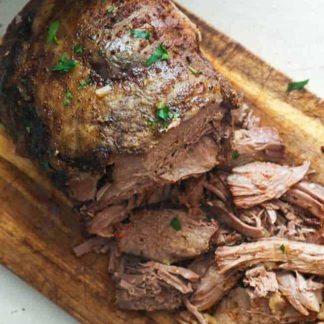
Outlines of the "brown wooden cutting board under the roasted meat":
{"type": "MultiPolygon", "coordinates": [[[[279,129],[288,162],[310,160],[318,171],[314,180],[324,184],[324,101],[305,89],[287,93],[288,77],[182,10],[198,24],[202,50],[215,69],[244,92],[264,125],[279,129]]],[[[72,247],[82,236],[71,203],[45,173],[14,152],[0,131],[0,263],[82,324],[175,323],[164,312],[124,312],[114,306],[107,257],[74,257],[72,247]]]]}

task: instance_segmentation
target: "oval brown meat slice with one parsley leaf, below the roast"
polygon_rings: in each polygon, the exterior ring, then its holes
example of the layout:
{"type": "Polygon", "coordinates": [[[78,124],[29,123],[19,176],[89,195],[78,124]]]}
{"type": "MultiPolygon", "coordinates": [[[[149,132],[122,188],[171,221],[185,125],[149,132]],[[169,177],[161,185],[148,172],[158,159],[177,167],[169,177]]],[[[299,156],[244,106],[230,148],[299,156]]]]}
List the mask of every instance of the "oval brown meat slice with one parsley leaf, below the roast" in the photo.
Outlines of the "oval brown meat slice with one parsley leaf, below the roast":
{"type": "Polygon", "coordinates": [[[217,229],[199,210],[197,215],[193,210],[144,210],[132,215],[130,223],[121,225],[116,238],[124,253],[169,264],[207,252],[217,229]],[[180,230],[171,226],[172,220],[179,221],[180,230]]]}

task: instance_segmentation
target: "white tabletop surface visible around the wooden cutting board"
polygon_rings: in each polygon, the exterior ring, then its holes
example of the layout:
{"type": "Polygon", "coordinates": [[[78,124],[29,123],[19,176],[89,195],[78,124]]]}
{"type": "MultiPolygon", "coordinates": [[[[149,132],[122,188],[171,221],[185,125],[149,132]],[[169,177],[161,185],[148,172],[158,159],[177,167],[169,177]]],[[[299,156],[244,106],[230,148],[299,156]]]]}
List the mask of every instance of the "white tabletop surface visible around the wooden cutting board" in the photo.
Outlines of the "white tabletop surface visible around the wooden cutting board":
{"type": "MultiPolygon", "coordinates": [[[[25,2],[0,0],[0,36],[25,2]]],[[[178,2],[324,97],[324,0],[178,2]]],[[[77,322],[0,266],[0,324],[44,323],[77,322]]]]}

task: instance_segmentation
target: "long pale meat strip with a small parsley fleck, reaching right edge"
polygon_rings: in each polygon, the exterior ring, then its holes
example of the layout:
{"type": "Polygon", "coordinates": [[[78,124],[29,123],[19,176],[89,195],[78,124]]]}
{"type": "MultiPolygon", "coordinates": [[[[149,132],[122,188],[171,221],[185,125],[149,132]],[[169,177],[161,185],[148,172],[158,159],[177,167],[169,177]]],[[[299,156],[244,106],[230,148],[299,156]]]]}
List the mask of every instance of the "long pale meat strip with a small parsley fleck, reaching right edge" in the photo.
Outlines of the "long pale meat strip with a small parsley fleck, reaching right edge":
{"type": "Polygon", "coordinates": [[[221,274],[247,269],[260,263],[274,263],[278,269],[324,275],[324,246],[285,239],[265,239],[232,247],[219,247],[215,259],[221,274]]]}

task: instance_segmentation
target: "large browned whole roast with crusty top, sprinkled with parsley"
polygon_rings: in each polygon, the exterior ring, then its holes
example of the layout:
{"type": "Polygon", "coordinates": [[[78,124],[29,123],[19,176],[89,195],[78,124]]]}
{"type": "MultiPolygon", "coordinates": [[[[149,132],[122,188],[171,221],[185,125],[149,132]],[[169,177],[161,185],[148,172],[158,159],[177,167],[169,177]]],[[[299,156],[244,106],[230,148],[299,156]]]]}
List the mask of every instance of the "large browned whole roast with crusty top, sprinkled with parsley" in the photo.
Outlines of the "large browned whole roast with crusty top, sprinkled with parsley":
{"type": "Polygon", "coordinates": [[[242,96],[206,64],[196,25],[172,1],[31,0],[19,15],[0,47],[0,120],[18,152],[92,201],[90,213],[225,161],[242,96]],[[47,41],[53,21],[58,42],[47,41]],[[161,44],[168,59],[148,66],[161,44]]]}

